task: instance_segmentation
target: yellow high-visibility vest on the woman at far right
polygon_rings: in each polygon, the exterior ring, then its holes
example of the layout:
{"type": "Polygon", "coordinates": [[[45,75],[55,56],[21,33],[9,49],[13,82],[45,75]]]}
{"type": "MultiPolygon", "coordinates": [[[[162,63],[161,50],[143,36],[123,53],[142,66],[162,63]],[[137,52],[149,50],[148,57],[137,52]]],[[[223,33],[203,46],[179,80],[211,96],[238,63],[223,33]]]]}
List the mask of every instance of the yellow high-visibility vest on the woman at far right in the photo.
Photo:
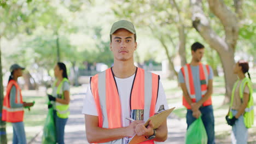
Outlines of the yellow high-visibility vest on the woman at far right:
{"type": "MultiPolygon", "coordinates": [[[[232,118],[232,104],[234,101],[234,95],[235,95],[235,90],[237,87],[239,80],[237,80],[235,82],[235,85],[232,89],[232,93],[231,93],[231,101],[230,101],[230,112],[229,112],[229,118],[232,118]]],[[[254,101],[253,101],[253,88],[252,88],[252,83],[251,80],[248,79],[247,77],[245,77],[242,82],[240,83],[240,87],[239,87],[239,95],[240,95],[240,99],[241,101],[243,100],[243,91],[245,90],[246,85],[249,88],[249,100],[245,109],[245,113],[243,114],[243,118],[244,118],[244,123],[246,128],[251,128],[252,125],[254,124],[254,101]]]]}

